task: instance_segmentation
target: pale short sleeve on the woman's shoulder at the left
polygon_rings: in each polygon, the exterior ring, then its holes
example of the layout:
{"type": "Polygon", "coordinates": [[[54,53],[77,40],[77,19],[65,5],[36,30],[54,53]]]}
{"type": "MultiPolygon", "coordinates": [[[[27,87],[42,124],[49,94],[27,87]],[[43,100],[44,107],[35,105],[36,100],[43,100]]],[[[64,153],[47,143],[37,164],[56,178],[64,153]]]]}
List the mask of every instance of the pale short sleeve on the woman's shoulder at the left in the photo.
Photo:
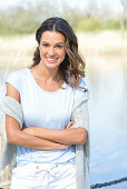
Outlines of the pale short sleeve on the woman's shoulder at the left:
{"type": "Polygon", "coordinates": [[[13,71],[9,73],[6,82],[12,84],[20,92],[20,71],[13,71]]]}

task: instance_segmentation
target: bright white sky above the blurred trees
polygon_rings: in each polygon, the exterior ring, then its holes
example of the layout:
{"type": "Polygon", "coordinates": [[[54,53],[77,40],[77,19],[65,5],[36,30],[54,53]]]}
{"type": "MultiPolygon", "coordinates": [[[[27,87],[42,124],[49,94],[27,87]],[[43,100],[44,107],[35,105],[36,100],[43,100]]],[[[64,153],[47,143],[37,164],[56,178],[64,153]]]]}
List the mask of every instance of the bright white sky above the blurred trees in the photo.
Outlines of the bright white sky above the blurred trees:
{"type": "MultiPolygon", "coordinates": [[[[36,2],[35,0],[30,0],[30,1],[33,1],[33,3],[36,2]]],[[[89,2],[95,2],[96,1],[96,4],[102,9],[105,6],[107,6],[113,14],[120,14],[123,12],[123,6],[120,3],[121,0],[51,0],[52,1],[58,1],[59,6],[60,6],[60,1],[65,1],[67,2],[67,4],[69,4],[70,7],[78,7],[80,9],[82,8],[86,8],[88,7],[88,3],[89,2]]],[[[127,1],[127,0],[125,0],[127,1]]],[[[17,6],[19,3],[23,2],[23,4],[27,2],[23,1],[23,0],[0,0],[0,8],[2,9],[7,9],[9,8],[10,6],[17,6]]]]}

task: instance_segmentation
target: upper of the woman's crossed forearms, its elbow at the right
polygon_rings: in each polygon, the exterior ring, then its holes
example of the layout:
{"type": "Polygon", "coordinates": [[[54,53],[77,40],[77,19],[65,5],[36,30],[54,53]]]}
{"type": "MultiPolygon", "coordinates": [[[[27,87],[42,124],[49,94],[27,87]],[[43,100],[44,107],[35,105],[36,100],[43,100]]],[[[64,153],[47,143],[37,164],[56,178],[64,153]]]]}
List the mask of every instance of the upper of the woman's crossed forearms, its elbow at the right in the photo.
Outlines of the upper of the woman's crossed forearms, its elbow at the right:
{"type": "Polygon", "coordinates": [[[30,127],[26,128],[25,132],[63,145],[84,145],[87,140],[87,131],[84,128],[48,129],[30,127]]]}

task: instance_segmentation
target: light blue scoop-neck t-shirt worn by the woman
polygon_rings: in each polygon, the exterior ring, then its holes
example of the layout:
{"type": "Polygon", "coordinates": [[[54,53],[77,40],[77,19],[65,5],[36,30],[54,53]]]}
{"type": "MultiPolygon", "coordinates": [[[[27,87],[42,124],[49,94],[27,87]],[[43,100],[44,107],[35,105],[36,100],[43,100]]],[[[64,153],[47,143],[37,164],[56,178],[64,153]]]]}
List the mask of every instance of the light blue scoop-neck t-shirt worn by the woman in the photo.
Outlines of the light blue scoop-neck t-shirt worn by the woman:
{"type": "MultiPolygon", "coordinates": [[[[30,69],[11,72],[7,81],[18,89],[23,112],[23,128],[41,127],[65,129],[71,118],[72,105],[84,90],[63,83],[55,92],[42,90],[36,82],[30,69]]],[[[80,86],[85,81],[80,79],[80,86]]],[[[65,163],[75,162],[75,148],[70,146],[65,150],[35,150],[17,146],[17,163],[28,162],[65,163]]]]}

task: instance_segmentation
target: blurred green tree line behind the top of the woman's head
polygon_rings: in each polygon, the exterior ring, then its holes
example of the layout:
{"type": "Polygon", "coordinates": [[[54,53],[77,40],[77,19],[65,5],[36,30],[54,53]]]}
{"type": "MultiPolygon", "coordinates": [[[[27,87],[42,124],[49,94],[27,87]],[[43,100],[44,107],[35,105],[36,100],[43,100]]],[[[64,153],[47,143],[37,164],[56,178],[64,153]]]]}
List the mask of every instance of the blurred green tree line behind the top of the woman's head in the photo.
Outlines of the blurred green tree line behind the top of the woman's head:
{"type": "MultiPolygon", "coordinates": [[[[0,9],[0,34],[33,33],[40,23],[49,17],[65,18],[75,31],[101,31],[106,29],[127,29],[127,0],[120,0],[124,17],[111,18],[107,4],[98,8],[96,1],[89,0],[87,9],[80,10],[78,4],[68,6],[67,1],[26,0],[26,4],[0,9]]],[[[84,6],[84,4],[82,4],[84,6]]]]}

